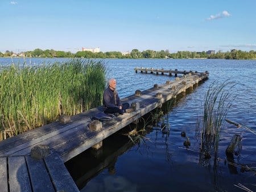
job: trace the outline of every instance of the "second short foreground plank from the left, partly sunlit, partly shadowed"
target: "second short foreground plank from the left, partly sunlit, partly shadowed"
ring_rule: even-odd
[[[32,191],[24,156],[8,157],[10,192]]]

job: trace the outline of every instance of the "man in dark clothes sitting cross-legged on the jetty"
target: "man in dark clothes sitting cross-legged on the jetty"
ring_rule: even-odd
[[[104,104],[104,112],[106,114],[114,114],[118,112],[119,114],[123,114],[127,108],[130,107],[129,103],[121,103],[120,98],[118,96],[115,87],[117,86],[117,82],[115,79],[111,78],[109,80],[109,86],[106,88],[103,94],[103,104]]]

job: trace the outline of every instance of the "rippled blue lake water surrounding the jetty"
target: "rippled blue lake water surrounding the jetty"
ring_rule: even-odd
[[[30,65],[63,59],[28,59]],[[105,60],[108,77],[117,79],[121,98],[163,84],[173,77],[136,74],[135,67],[209,71],[209,80],[181,97],[169,112],[170,135],[153,127],[140,145],[133,145],[126,136],[116,134],[104,141],[102,155],[86,151],[67,163],[81,191],[242,191],[234,184],[242,183],[256,191],[255,171],[226,163],[225,149],[234,134],[241,135],[242,151],[234,156],[238,165],[256,170],[256,135],[232,124],[226,124],[218,148],[219,161],[200,158],[200,138],[196,136],[197,116],[201,113],[204,94],[212,82],[236,82],[228,118],[256,131],[256,60]],[[0,59],[1,64],[23,63],[23,59]],[[183,149],[185,131],[191,140]]]

